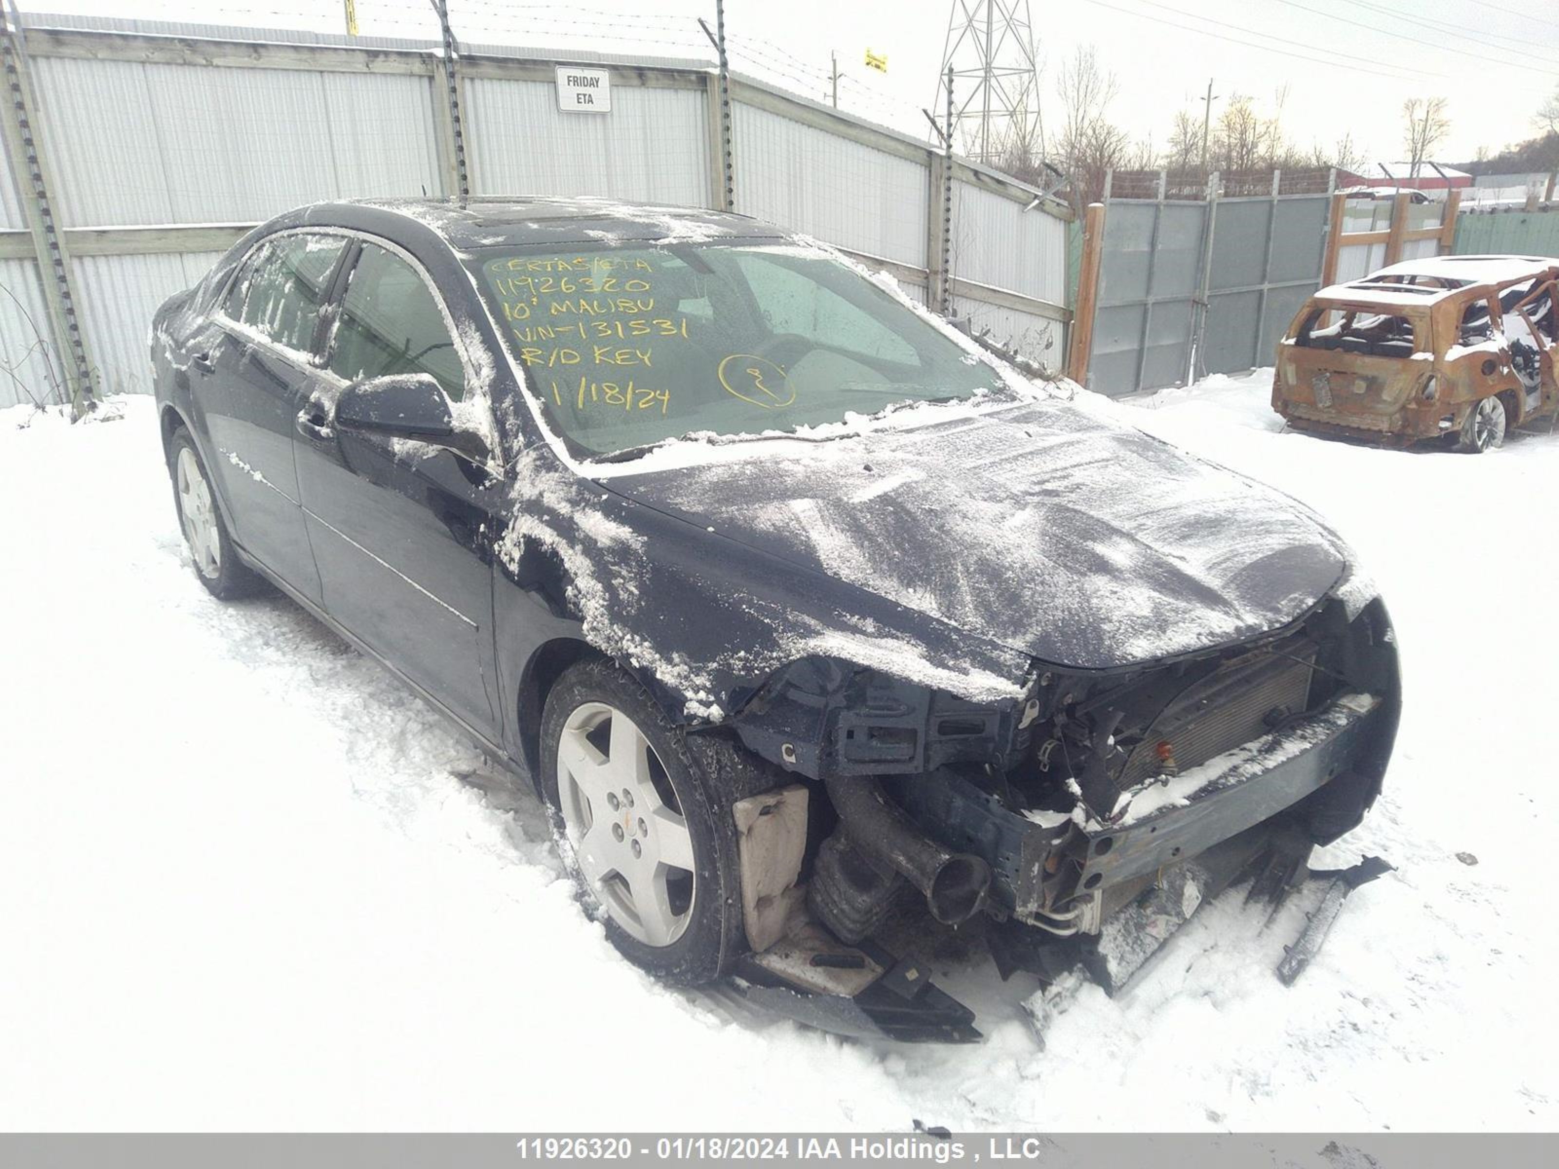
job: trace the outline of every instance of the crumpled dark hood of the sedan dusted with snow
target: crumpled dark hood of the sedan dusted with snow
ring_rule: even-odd
[[[1076,669],[1300,617],[1347,550],[1289,497],[1062,402],[716,446],[603,486],[968,634]],[[711,555],[719,555],[711,541]]]

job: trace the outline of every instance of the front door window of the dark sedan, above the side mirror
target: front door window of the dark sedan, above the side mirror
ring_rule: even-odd
[[[466,385],[460,352],[422,274],[373,243],[363,245],[346,284],[331,369],[348,382],[432,374],[454,401]]]

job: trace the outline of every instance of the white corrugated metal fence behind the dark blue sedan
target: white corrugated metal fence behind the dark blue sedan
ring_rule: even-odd
[[[69,22],[72,26],[64,26]],[[147,329],[249,224],[318,200],[455,189],[443,61],[426,42],[164,22],[23,17],[34,132],[106,393],[147,391]],[[458,31],[458,30],[457,30]],[[455,67],[474,193],[719,206],[719,114],[700,62],[606,61],[610,114],[561,114],[555,56],[465,47]],[[940,271],[940,153],[734,78],[736,210],[808,232],[1059,363],[1066,218],[954,159]],[[34,242],[0,176],[0,404],[61,383]],[[53,396],[53,394],[51,394]],[[58,399],[56,399],[58,401]]]

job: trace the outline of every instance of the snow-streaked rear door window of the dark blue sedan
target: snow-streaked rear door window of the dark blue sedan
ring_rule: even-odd
[[[287,349],[313,352],[320,310],[345,246],[340,235],[295,234],[267,242],[228,293],[228,316]]]

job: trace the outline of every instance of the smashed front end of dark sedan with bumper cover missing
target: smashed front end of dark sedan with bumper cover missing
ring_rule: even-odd
[[[1035,662],[995,703],[797,661],[726,722],[801,779],[737,806],[753,952],[731,985],[831,1030],[973,1040],[914,943],[957,927],[1002,977],[1115,993],[1224,888],[1305,881],[1378,795],[1398,711],[1384,605],[1338,594],[1172,661]]]

